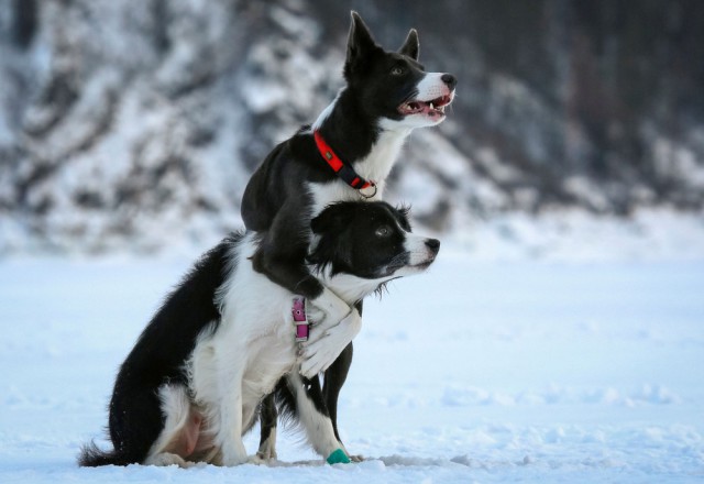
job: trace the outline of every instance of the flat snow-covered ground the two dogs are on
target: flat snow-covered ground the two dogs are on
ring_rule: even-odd
[[[77,468],[117,366],[189,264],[0,262],[0,482],[704,481],[704,261],[476,262],[448,248],[365,306],[340,403],[365,462],[322,465],[284,433],[272,468]]]

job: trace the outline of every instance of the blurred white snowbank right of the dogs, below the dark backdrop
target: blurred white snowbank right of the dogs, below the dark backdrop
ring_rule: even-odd
[[[482,261],[698,261],[704,258],[704,213],[664,208],[629,217],[554,208],[541,213],[457,217],[450,240]]]

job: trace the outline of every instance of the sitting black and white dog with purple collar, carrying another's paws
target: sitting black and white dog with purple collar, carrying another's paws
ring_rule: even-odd
[[[307,268],[348,306],[391,279],[422,272],[440,248],[438,240],[413,235],[406,211],[385,202],[334,204],[312,219],[311,232]],[[232,234],[166,298],[117,376],[113,450],[87,446],[80,465],[261,462],[248,457],[242,435],[274,391],[314,449],[344,461],[299,369],[305,353],[320,352],[327,340],[351,340],[361,320],[326,334],[314,327],[301,348],[294,323],[301,312],[305,320],[305,302],[254,271],[260,244],[254,232]]]

